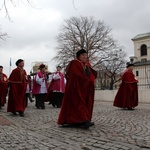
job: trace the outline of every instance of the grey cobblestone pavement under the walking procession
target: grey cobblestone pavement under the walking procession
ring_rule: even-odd
[[[25,117],[0,110],[0,150],[149,150],[150,104],[134,111],[95,102],[89,130],[57,125],[60,109],[29,103]]]

